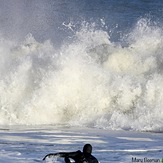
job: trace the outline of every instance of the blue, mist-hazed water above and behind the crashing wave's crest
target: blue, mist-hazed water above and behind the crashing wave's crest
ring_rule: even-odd
[[[50,39],[60,44],[72,36],[63,23],[74,23],[79,30],[83,21],[96,23],[117,41],[140,18],[162,24],[162,0],[8,0],[0,1],[0,32],[12,39],[31,33],[36,39]],[[101,19],[105,25],[101,24]]]

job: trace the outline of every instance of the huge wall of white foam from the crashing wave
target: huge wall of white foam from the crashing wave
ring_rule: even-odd
[[[141,19],[125,40],[87,23],[58,50],[0,40],[0,124],[163,131],[163,31]]]

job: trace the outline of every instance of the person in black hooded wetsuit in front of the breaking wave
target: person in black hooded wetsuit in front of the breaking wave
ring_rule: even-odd
[[[73,159],[75,163],[99,163],[98,160],[92,155],[91,144],[85,144],[83,147],[83,152],[78,150],[76,152],[50,153],[46,155],[43,160],[51,156],[64,157],[66,163],[71,163],[70,158]]]

